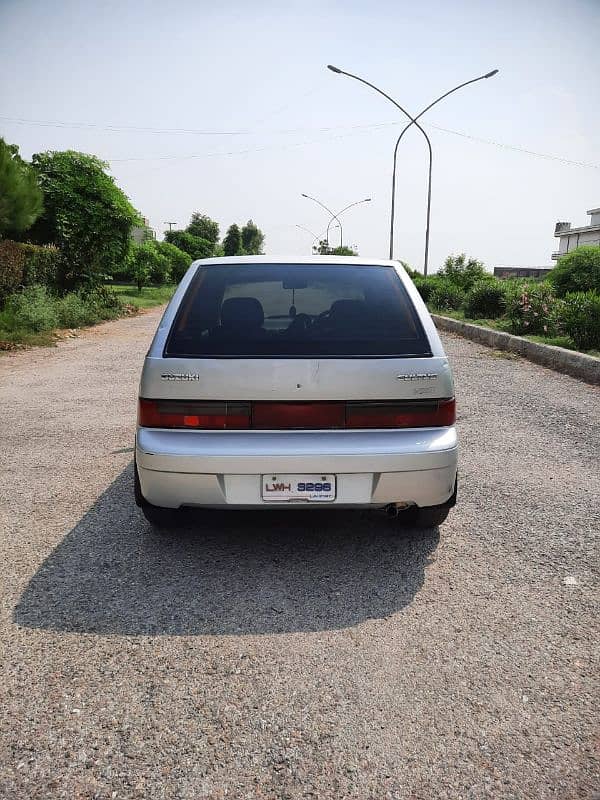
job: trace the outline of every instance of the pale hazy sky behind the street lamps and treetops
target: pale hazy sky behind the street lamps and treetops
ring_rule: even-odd
[[[599,30],[600,0],[0,0],[0,136],[26,158],[75,149],[109,161],[159,232],[195,210],[222,233],[252,217],[271,254],[309,253],[295,225],[327,225],[301,192],[334,210],[372,197],[345,215],[344,238],[385,258],[405,119],[326,64],[415,114],[498,68],[423,118],[430,263],[466,251],[490,267],[550,264],[556,220],[587,224],[600,206]],[[400,151],[396,255],[419,268],[426,180],[413,129]]]

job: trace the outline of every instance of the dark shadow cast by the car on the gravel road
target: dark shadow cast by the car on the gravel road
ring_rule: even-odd
[[[14,621],[121,635],[309,632],[383,618],[423,585],[439,533],[380,512],[190,513],[153,533],[129,465],[50,554]]]

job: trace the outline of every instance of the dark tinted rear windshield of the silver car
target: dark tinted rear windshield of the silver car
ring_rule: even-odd
[[[165,356],[352,358],[431,355],[393,267],[199,267]]]

